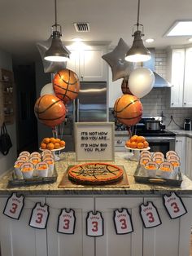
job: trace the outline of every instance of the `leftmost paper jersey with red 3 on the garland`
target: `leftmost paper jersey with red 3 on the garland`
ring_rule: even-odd
[[[11,196],[7,199],[3,214],[7,215],[10,218],[19,219],[23,208],[24,196],[17,196],[16,193],[12,193]]]

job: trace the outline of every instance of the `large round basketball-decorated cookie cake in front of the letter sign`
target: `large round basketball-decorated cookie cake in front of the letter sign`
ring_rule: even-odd
[[[81,184],[102,185],[123,178],[124,171],[107,163],[86,163],[68,170],[68,179]]]

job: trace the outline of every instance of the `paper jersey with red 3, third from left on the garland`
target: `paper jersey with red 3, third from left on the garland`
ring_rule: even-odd
[[[69,211],[66,208],[61,210],[58,220],[57,232],[63,234],[74,234],[76,226],[76,216],[75,211],[70,209]]]

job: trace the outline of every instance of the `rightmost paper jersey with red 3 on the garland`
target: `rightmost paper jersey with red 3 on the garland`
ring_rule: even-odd
[[[181,197],[177,196],[175,192],[171,192],[170,196],[164,195],[163,199],[170,218],[179,218],[187,213]]]

